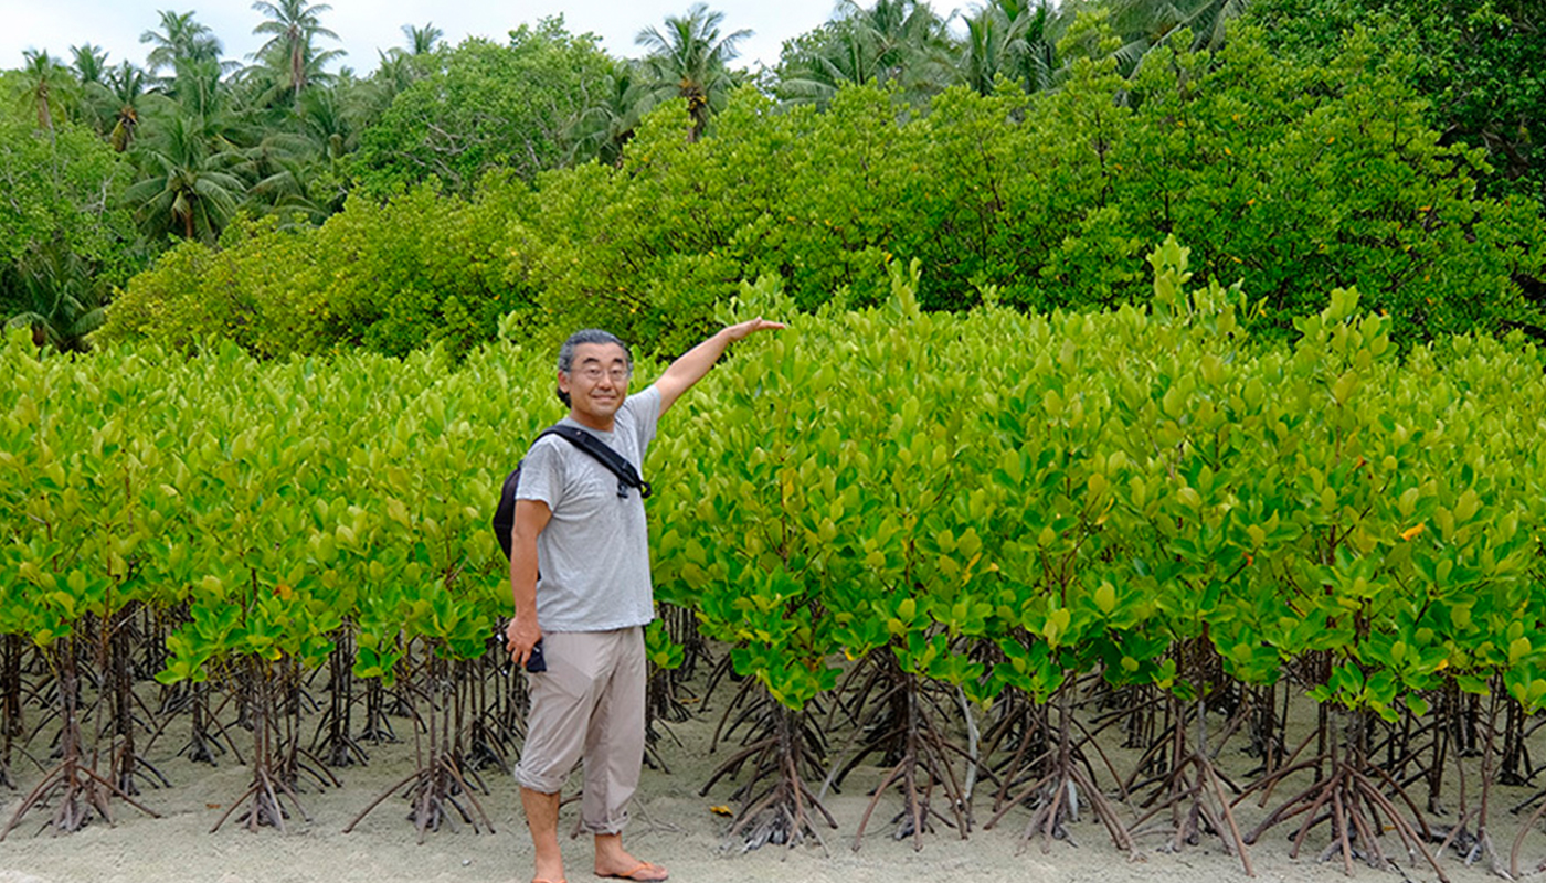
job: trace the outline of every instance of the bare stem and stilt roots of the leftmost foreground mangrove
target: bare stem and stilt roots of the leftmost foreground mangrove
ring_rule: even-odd
[[[108,799],[113,796],[152,818],[161,818],[155,810],[125,795],[111,779],[97,773],[94,755],[93,764],[85,759],[85,750],[80,744],[79,660],[74,636],[54,640],[48,648],[48,657],[59,684],[60,761],[43,775],[43,781],[37,787],[22,798],[15,813],[11,815],[5,829],[0,829],[0,840],[5,840],[32,807],[46,801],[53,801],[54,815],[43,824],[43,829],[51,827],[54,834],[80,830],[91,820],[93,812],[111,824],[113,815],[108,809]]]

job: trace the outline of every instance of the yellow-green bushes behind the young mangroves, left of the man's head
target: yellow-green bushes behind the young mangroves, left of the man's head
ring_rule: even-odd
[[[182,243],[135,277],[100,337],[182,351],[229,339],[258,356],[461,353],[524,305],[490,254],[502,227],[502,206],[428,187],[383,204],[352,198],[322,227],[243,221],[218,247]]]

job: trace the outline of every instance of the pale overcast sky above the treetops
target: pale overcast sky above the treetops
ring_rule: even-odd
[[[861,0],[869,6],[869,0]],[[332,0],[332,9],[322,12],[322,25],[339,42],[323,40],[326,48],[348,53],[342,63],[368,74],[377,65],[377,51],[405,45],[404,25],[424,26],[433,22],[445,31],[451,45],[468,36],[498,42],[523,22],[535,23],[546,15],[564,15],[574,34],[586,31],[601,37],[601,45],[614,56],[638,57],[642,49],[634,37],[643,28],[659,26],[666,15],[682,15],[693,0]],[[826,22],[836,0],[717,0],[710,9],[725,14],[722,34],[742,28],[754,31],[742,40],[734,66],[771,66],[778,62],[784,40],[810,31]],[[955,9],[949,0],[932,0],[942,14]],[[161,9],[195,12],[195,20],[207,25],[226,48],[226,57],[241,62],[263,40],[252,28],[263,15],[250,0],[0,0],[0,68],[19,68],[25,49],[46,49],[70,62],[70,46],[94,43],[108,53],[108,63],[124,59],[145,63],[148,46],[139,36],[159,29]]]

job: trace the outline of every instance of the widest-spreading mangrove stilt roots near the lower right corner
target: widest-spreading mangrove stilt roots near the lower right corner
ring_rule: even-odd
[[[1342,738],[1331,741],[1334,747],[1326,756],[1291,762],[1275,773],[1257,779],[1235,798],[1238,804],[1255,790],[1271,787],[1296,772],[1317,770],[1320,773],[1323,770],[1323,776],[1317,775],[1317,781],[1308,789],[1271,810],[1245,837],[1245,843],[1252,844],[1272,827],[1302,815],[1303,821],[1294,832],[1289,857],[1299,857],[1299,851],[1313,827],[1328,823],[1331,843],[1322,852],[1320,860],[1325,861],[1340,854],[1343,869],[1351,874],[1354,857],[1362,858],[1371,868],[1396,866],[1381,847],[1382,835],[1388,826],[1390,830],[1396,832],[1413,863],[1421,855],[1438,878],[1447,883],[1449,877],[1425,846],[1425,841],[1438,840],[1425,817],[1390,773],[1368,759],[1368,716],[1371,711],[1354,708],[1351,711],[1339,710],[1336,714],[1343,721]],[[1410,817],[1402,813],[1394,799],[1385,796],[1387,790],[1407,806]]]

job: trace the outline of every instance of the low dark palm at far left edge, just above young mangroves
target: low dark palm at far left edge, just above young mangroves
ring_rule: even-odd
[[[83,353],[87,334],[102,326],[102,285],[96,274],[57,238],[34,246],[6,274],[12,285],[6,328],[31,328],[32,343],[60,353]]]

